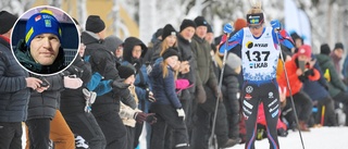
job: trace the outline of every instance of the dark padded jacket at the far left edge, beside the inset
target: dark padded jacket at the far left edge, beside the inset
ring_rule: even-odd
[[[23,122],[30,96],[28,73],[15,61],[10,44],[0,37],[0,122]]]

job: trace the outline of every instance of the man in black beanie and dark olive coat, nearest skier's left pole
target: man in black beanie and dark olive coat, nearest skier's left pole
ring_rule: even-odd
[[[191,135],[191,148],[202,149],[208,147],[208,137],[209,137],[209,127],[210,127],[210,114],[211,112],[204,110],[200,103],[204,103],[208,99],[206,89],[210,89],[215,97],[221,96],[219,91],[217,79],[214,74],[214,67],[211,59],[211,46],[204,39],[207,35],[208,22],[203,16],[197,16],[195,18],[197,25],[196,34],[191,41],[191,50],[194,52],[194,58],[197,67],[196,67],[196,99],[194,109],[196,113],[196,119],[194,121],[195,128],[192,129]],[[204,88],[204,86],[207,86]],[[220,92],[220,94],[219,94]]]

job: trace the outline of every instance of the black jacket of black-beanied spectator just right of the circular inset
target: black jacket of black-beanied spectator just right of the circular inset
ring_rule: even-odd
[[[85,59],[89,59],[88,62],[90,63],[92,74],[98,72],[103,76],[104,80],[111,80],[111,83],[120,80],[121,77],[114,58],[105,49],[102,41],[92,37],[90,33],[84,32],[82,34],[82,42],[86,45]],[[110,88],[110,86],[107,88]],[[112,91],[98,96],[91,108],[94,115],[99,116],[108,113],[108,111],[119,111],[120,97],[128,98],[130,94],[127,88],[112,88]]]

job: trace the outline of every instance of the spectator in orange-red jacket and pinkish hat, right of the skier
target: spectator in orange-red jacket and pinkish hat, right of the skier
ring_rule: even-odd
[[[296,54],[293,55],[290,61],[285,63],[287,70],[287,76],[290,84],[291,94],[289,95],[289,88],[287,88],[287,105],[284,111],[291,108],[289,96],[294,97],[295,108],[299,120],[299,128],[303,132],[309,132],[307,123],[312,114],[312,101],[311,98],[302,90],[303,82],[318,80],[320,73],[313,69],[313,61],[311,61],[311,47],[304,45],[301,46]],[[287,78],[283,72],[281,77],[277,78],[281,88],[287,87]],[[295,119],[288,120],[289,124],[295,123]]]

